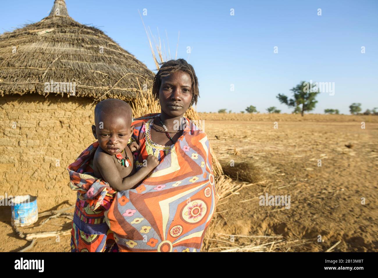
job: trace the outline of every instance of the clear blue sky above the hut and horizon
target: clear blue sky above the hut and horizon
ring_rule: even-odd
[[[378,107],[378,1],[66,3],[73,19],[99,27],[151,70],[156,67],[138,9],[147,9],[143,20],[155,36],[159,28],[166,42],[167,31],[172,59],[180,31],[178,58],[187,59],[187,46],[192,48],[188,62],[200,84],[200,112],[254,105],[261,113],[270,106],[290,113],[276,96],[291,96],[301,80],[335,82],[335,94],[319,94],[312,113],[334,108],[349,114],[353,102],[362,103],[363,111]],[[0,32],[41,20],[52,5],[53,0],[2,1]]]

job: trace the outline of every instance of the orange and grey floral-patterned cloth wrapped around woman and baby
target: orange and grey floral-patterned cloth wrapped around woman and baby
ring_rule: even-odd
[[[132,123],[138,130],[134,132],[137,142],[142,126],[154,115]],[[81,213],[75,211],[74,215],[73,251],[200,251],[215,211],[216,192],[208,138],[195,125],[189,127],[135,189],[114,192],[90,175],[90,161],[98,142],[68,167],[71,188],[78,190],[76,210]]]

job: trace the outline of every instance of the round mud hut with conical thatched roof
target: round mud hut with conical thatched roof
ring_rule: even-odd
[[[94,140],[93,106],[136,101],[154,74],[104,32],[73,20],[64,0],[48,17],[0,36],[0,195],[74,200],[66,167]]]

